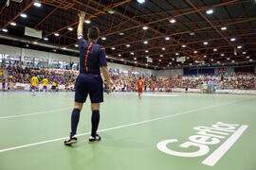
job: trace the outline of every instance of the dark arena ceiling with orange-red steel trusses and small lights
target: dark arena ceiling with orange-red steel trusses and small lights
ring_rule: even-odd
[[[9,7],[6,2],[0,4],[4,44],[77,57],[77,14],[85,11],[90,23],[84,28],[100,27],[99,43],[109,61],[168,69],[256,60],[255,0],[10,0]],[[42,30],[43,38],[25,36],[25,26]],[[180,57],[186,60],[178,62]]]

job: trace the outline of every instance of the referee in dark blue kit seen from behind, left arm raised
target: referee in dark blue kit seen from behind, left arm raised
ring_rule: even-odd
[[[76,133],[80,112],[88,94],[90,96],[92,110],[92,128],[89,143],[101,141],[101,136],[97,134],[100,122],[100,103],[103,102],[101,73],[106,81],[106,93],[111,93],[105,48],[97,43],[100,38],[100,30],[96,26],[90,27],[87,32],[88,41],[85,41],[82,36],[84,17],[85,12],[80,12],[78,26],[80,75],[76,81],[75,105],[71,115],[71,132],[69,139],[64,141],[66,145],[77,143]]]

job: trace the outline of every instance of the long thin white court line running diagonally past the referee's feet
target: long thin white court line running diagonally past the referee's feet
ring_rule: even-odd
[[[137,122],[137,123],[133,123],[133,124],[127,124],[127,125],[123,125],[123,126],[119,126],[119,127],[104,128],[104,129],[101,129],[101,130],[98,130],[98,131],[103,132],[103,131],[109,131],[109,130],[113,130],[113,129],[122,128],[122,127],[137,126],[137,125],[141,125],[141,124],[145,124],[145,123],[149,123],[149,122],[154,122],[154,121],[157,121],[157,120],[167,119],[167,118],[170,118],[170,117],[175,117],[175,116],[179,116],[179,115],[182,115],[182,114],[191,113],[191,112],[198,111],[198,110],[208,110],[210,108],[225,106],[225,105],[229,105],[231,103],[235,103],[235,102],[239,102],[239,101],[241,101],[241,100],[236,100],[236,101],[232,101],[232,102],[224,103],[224,104],[219,104],[219,105],[213,105],[213,106],[209,106],[209,107],[203,107],[203,108],[199,108],[199,109],[195,109],[195,110],[186,110],[186,111],[183,111],[183,112],[179,112],[179,113],[175,113],[175,114],[171,114],[171,115],[166,115],[166,116],[162,116],[162,117],[157,117],[157,118],[154,118],[154,119],[149,119],[149,120],[145,120],[145,121],[141,121],[141,122]],[[84,135],[87,135],[87,134],[90,134],[90,132],[85,132],[85,133],[79,134],[77,136],[84,136]],[[9,147],[9,148],[4,148],[4,149],[0,149],[0,153],[7,152],[7,151],[10,151],[10,150],[16,150],[16,149],[20,149],[20,148],[26,148],[26,147],[30,147],[30,146],[33,146],[33,145],[47,144],[47,143],[52,143],[52,142],[56,142],[56,141],[62,141],[66,138],[68,138],[68,137],[62,137],[62,138],[47,140],[47,141],[43,141],[43,142],[39,142],[39,143],[23,144],[23,145],[13,146],[13,147]]]

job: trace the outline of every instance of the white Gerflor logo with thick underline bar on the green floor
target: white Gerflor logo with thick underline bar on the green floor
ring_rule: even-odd
[[[202,164],[214,166],[225,154],[228,154],[229,149],[241,138],[247,127],[247,125],[223,122],[217,122],[210,127],[193,127],[195,134],[188,137],[187,140],[164,140],[156,144],[156,147],[161,152],[174,157],[204,157],[205,160],[201,162]],[[214,145],[218,145],[218,147],[216,148]]]

